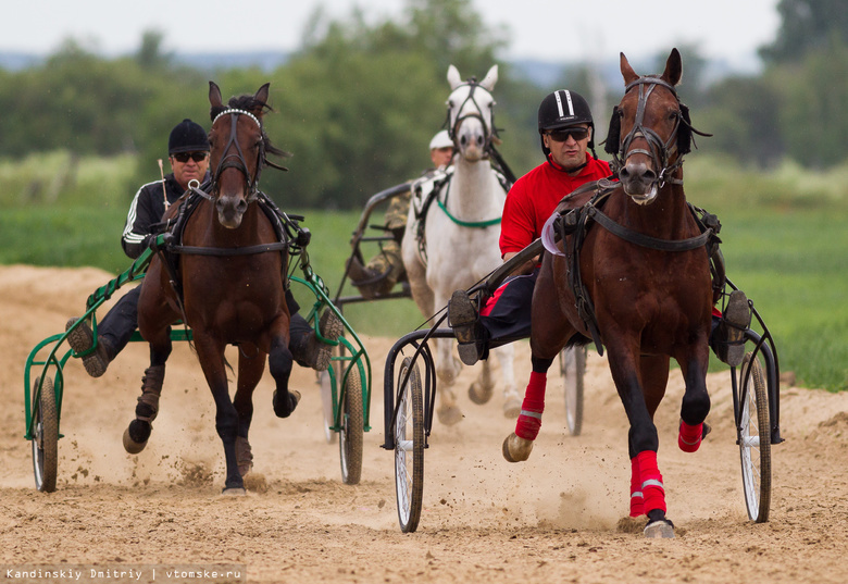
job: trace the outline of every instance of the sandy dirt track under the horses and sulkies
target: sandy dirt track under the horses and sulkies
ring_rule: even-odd
[[[109,277],[93,269],[0,266],[0,580],[33,564],[238,564],[249,582],[848,582],[848,395],[784,388],[786,442],[773,447],[771,521],[753,524],[727,373],[708,380],[713,433],[694,455],[676,446],[683,384],[673,373],[657,422],[677,537],[646,540],[619,527],[627,512],[627,427],[606,361],[594,352],[583,434],[568,436],[561,392],[551,384],[541,435],[523,464],[500,453],[514,422],[501,414],[499,390],[474,406],[461,389],[465,419],[454,427],[436,423],[425,452],[414,534],[400,533],[392,455],[379,448],[387,338],[364,338],[374,394],[360,485],[341,483],[314,373],[296,368],[292,386],[303,399],[291,418],[274,417],[269,374],[254,395],[251,490],[221,496],[214,409],[185,344],[169,362],[148,448],[127,455],[121,435],[147,365],[147,346],[132,344],[101,378],[76,360],[65,368],[58,490],[38,493],[23,438],[26,356],[63,331]],[[523,383],[528,348],[517,347]],[[463,371],[461,386],[472,376]]]

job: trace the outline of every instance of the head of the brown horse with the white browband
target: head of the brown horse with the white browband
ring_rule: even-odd
[[[221,89],[209,82],[212,196],[219,222],[230,229],[241,224],[248,204],[255,199],[259,175],[266,162],[269,142],[262,115],[267,108],[269,86],[263,85],[253,96],[232,98],[224,105]]]

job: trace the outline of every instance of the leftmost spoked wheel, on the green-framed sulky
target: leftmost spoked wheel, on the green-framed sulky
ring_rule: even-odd
[[[35,396],[38,382],[33,387],[33,418],[35,433],[33,436],[33,471],[36,488],[42,493],[55,490],[57,468],[59,463],[59,415],[55,406],[53,380],[45,377],[41,395]]]

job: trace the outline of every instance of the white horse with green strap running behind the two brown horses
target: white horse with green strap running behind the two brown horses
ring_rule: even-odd
[[[424,237],[417,237],[416,206],[410,206],[402,243],[412,297],[424,316],[446,307],[453,290],[467,289],[501,264],[498,238],[507,192],[488,160],[494,137],[491,89],[498,80],[498,66],[486,77],[463,82],[453,65],[448,69],[451,94],[448,98],[448,133],[457,154],[450,181],[441,187],[438,200],[427,208]],[[453,355],[453,339],[436,339],[436,372],[439,378],[439,420],[456,424],[462,420],[451,388],[462,363]],[[504,415],[515,418],[521,398],[515,388],[514,349],[506,345],[492,352],[498,357],[503,380]],[[488,361],[482,362],[477,381],[469,388],[475,403],[485,403],[495,382]]]

